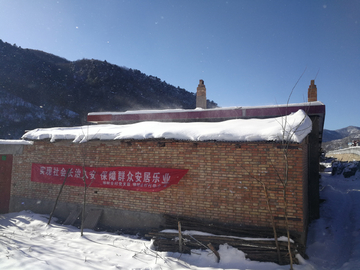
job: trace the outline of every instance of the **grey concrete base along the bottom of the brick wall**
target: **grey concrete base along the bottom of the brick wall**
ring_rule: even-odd
[[[54,204],[55,201],[13,196],[10,200],[10,212],[31,210],[34,213],[50,215]],[[82,209],[82,205],[58,201],[54,216],[65,220],[70,212],[76,209]],[[86,211],[88,212],[90,209],[102,209],[103,213],[98,226],[111,228],[111,230],[148,232],[150,230],[157,230],[160,225],[164,225],[165,223],[163,216],[159,214],[127,211],[99,205],[86,205]],[[146,220],[146,222],[144,222],[144,220]]]

